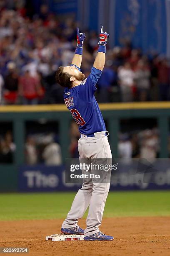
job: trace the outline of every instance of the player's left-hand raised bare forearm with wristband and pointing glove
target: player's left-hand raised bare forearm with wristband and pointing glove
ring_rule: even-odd
[[[79,33],[79,28],[77,28],[77,48],[75,50],[75,55],[72,59],[72,65],[81,67],[82,62],[82,47],[85,40],[85,33]]]

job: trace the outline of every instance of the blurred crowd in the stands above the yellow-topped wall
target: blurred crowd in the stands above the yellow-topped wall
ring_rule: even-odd
[[[24,0],[0,1],[0,104],[63,102],[55,72],[71,63],[76,26],[72,18],[59,21],[47,5],[35,14]],[[83,32],[81,68],[87,76],[97,53],[98,35]],[[145,55],[129,41],[113,49],[108,42],[106,60],[97,83],[98,102],[170,100],[170,66],[165,56]]]

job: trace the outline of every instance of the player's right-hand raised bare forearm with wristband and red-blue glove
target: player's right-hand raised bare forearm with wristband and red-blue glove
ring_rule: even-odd
[[[109,37],[109,34],[107,32],[103,32],[103,27],[101,28],[100,36],[99,36],[99,48],[97,52],[97,56],[95,58],[95,62],[93,64],[93,67],[96,69],[103,70],[105,66],[105,53],[106,53],[106,44],[107,44],[107,38]]]

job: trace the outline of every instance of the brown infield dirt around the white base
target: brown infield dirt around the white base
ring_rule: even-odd
[[[0,222],[0,247],[28,247],[29,256],[170,255],[170,217],[104,218],[100,230],[113,241],[45,241],[62,220]],[[85,228],[85,220],[79,222]],[[16,254],[8,254],[16,255]]]

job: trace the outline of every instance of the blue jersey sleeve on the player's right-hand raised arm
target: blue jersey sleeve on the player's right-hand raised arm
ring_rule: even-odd
[[[90,75],[79,86],[79,97],[85,102],[93,102],[94,93],[97,89],[96,84],[101,74],[101,70],[92,67]]]

